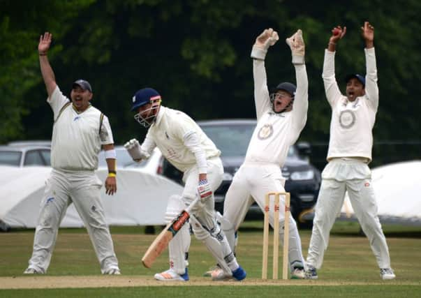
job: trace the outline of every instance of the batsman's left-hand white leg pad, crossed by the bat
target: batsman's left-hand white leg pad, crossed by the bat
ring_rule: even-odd
[[[168,200],[165,221],[169,223],[185,208],[186,204],[184,204],[182,197],[179,195],[172,195]],[[185,224],[168,245],[170,267],[177,272],[177,274],[184,274],[186,267],[189,265],[187,257],[190,243],[189,224]]]

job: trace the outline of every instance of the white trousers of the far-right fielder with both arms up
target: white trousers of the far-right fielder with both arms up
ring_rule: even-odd
[[[317,269],[322,266],[330,230],[344,204],[346,191],[355,216],[369,239],[378,267],[390,268],[389,249],[378,220],[371,171],[366,163],[350,158],[334,158],[322,172],[307,265]]]

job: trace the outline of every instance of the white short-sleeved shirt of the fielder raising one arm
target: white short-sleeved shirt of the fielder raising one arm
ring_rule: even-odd
[[[103,117],[100,133],[101,111],[93,106],[77,112],[71,104],[60,113],[69,101],[58,86],[47,98],[54,112],[51,165],[60,170],[96,170],[101,145],[114,143],[110,122]]]

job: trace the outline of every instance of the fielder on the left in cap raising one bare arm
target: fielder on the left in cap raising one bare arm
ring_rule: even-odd
[[[64,96],[55,82],[47,59],[52,34],[40,36],[38,54],[47,88],[47,103],[54,112],[52,129],[52,172],[45,186],[34,237],[34,251],[24,274],[45,274],[57,239],[57,231],[69,204],[82,218],[89,233],[103,274],[120,274],[112,239],[101,204],[102,183],[96,177],[98,154],[105,150],[108,195],[117,191],[116,154],[108,117],[90,104],[89,82],[73,83],[71,100]]]

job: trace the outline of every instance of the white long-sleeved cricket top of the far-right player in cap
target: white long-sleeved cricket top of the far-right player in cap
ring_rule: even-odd
[[[350,102],[341,94],[334,75],[334,52],[325,50],[323,82],[332,107],[327,161],[338,157],[361,157],[371,161],[373,126],[378,108],[376,54],[374,47],[364,49],[367,75],[365,95]]]

